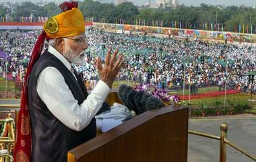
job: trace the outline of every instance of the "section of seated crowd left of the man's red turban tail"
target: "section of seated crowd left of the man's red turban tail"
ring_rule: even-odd
[[[3,77],[7,77],[7,72],[11,74],[13,81],[24,79],[28,60],[39,33],[37,30],[0,31],[0,73]]]

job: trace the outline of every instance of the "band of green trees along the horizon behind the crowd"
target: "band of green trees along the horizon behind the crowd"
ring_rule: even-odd
[[[46,3],[44,6],[32,2],[15,3],[8,11],[6,7],[0,5],[0,16],[10,14],[13,15],[15,20],[18,20],[20,16],[35,17],[51,17],[60,13],[58,5],[55,3]],[[253,7],[247,7],[245,5],[218,7],[215,5],[201,5],[186,6],[179,5],[177,8],[147,8],[136,7],[133,3],[121,3],[115,6],[113,3],[100,3],[93,0],[84,0],[79,2],[79,9],[84,13],[85,17],[94,17],[94,21],[99,21],[100,18],[104,18],[105,22],[117,23],[119,19],[125,19],[127,24],[133,24],[135,19],[141,19],[150,25],[150,22],[161,21],[164,22],[164,26],[170,26],[170,22],[189,22],[190,26],[203,23],[213,22],[218,24],[224,24],[224,30],[238,32],[238,26],[249,28],[251,25],[256,24],[256,9]],[[151,23],[152,24],[152,23]],[[243,24],[247,24],[243,26]],[[209,27],[208,27],[209,28]]]

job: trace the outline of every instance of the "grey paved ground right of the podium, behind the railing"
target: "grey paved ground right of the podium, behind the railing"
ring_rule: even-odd
[[[228,124],[228,140],[256,156],[256,117],[254,116],[192,119],[189,120],[189,130],[220,136],[222,122]],[[218,140],[189,134],[188,162],[218,162],[219,152],[220,142]],[[253,160],[227,146],[227,162],[253,162]]]

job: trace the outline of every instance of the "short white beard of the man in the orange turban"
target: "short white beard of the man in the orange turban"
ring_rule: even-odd
[[[65,42],[65,50],[63,52],[63,56],[69,60],[70,63],[73,63],[75,65],[83,65],[86,51],[82,51],[79,54],[76,54],[75,50],[71,49],[69,44]]]

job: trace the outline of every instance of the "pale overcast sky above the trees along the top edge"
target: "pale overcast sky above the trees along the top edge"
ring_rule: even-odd
[[[65,1],[65,0],[9,0],[11,2],[17,2],[17,1],[32,1],[32,2],[39,2],[39,1]],[[67,0],[69,1],[69,0]],[[79,0],[82,1],[82,0]],[[106,1],[117,1],[117,0],[98,0],[102,2]],[[149,0],[129,0],[133,1],[135,5],[143,5],[145,3],[148,3]],[[156,4],[156,0],[151,0],[152,4]],[[6,2],[6,0],[0,0],[0,2]],[[180,4],[185,5],[200,5],[201,3],[211,4],[211,5],[247,5],[247,6],[253,6],[256,5],[256,0],[179,0]]]

